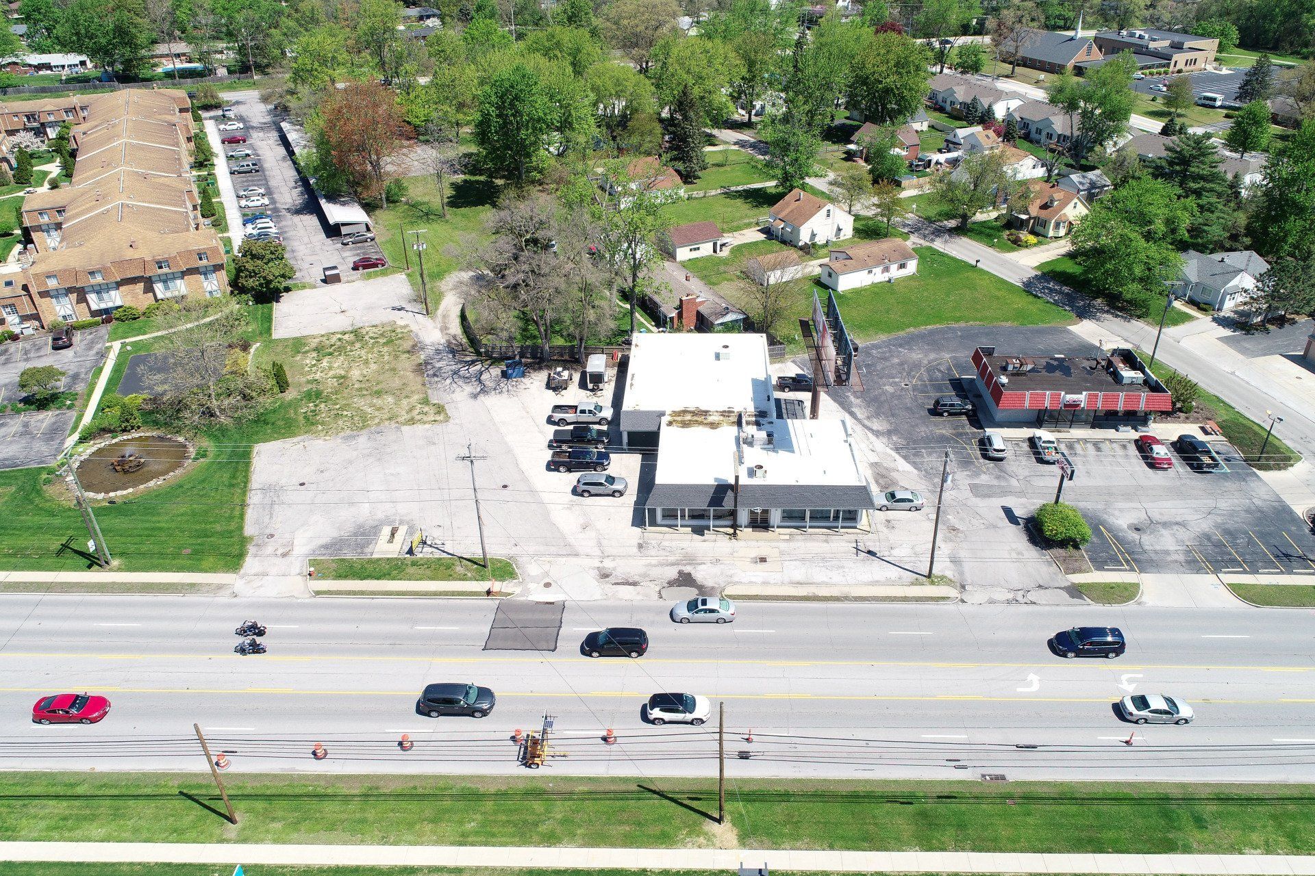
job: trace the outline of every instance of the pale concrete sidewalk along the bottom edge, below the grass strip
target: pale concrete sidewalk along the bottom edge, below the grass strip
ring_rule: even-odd
[[[275,846],[260,843],[0,843],[11,862],[171,864],[538,867],[550,869],[704,869],[736,867],[832,873],[1228,873],[1315,876],[1306,855],[1061,855],[959,851],[739,848],[533,848],[517,846]]]

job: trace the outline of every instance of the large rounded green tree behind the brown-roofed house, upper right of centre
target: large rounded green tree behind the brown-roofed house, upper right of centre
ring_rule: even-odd
[[[877,125],[901,125],[922,106],[931,54],[897,33],[878,33],[853,59],[847,100]]]

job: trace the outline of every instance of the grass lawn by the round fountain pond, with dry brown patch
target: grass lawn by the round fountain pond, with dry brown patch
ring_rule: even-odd
[[[237,571],[247,548],[243,524],[255,444],[446,419],[443,406],[429,402],[410,332],[372,326],[271,340],[272,305],[243,311],[246,335],[262,341],[256,364],[283,361],[292,386],[249,420],[193,433],[197,461],[178,478],[97,506],[96,519],[124,571]],[[109,387],[118,386],[133,353],[160,345],[159,339],[125,344]],[[159,426],[149,415],[143,419]],[[0,471],[0,567],[89,567],[84,557],[60,550],[66,540],[82,545],[87,535],[80,515],[53,481],[49,469]]]

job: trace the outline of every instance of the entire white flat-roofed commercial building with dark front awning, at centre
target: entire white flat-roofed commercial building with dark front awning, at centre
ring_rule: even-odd
[[[646,525],[843,529],[876,507],[848,423],[776,398],[764,335],[638,335],[622,443],[658,450]]]

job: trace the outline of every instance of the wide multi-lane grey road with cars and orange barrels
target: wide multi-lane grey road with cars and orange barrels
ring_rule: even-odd
[[[548,713],[565,755],[552,770],[709,775],[715,711],[702,728],[643,721],[648,695],[675,691],[725,703],[738,775],[1315,780],[1311,612],[743,603],[735,624],[681,626],[658,603],[577,603],[555,650],[485,650],[497,609],[7,595],[0,768],[204,770],[195,722],[237,771],[514,772],[509,737]],[[238,657],[233,628],[252,615],[270,651]],[[530,621],[504,642],[515,623]],[[1128,653],[1051,654],[1049,636],[1076,624],[1119,625]],[[648,630],[644,658],[580,654],[585,633],[622,625]],[[525,644],[551,632],[526,628]],[[431,682],[490,687],[497,708],[417,714]],[[1197,720],[1124,724],[1111,705],[1128,690],[1182,697]],[[80,691],[112,699],[105,721],[30,722],[39,695]]]

